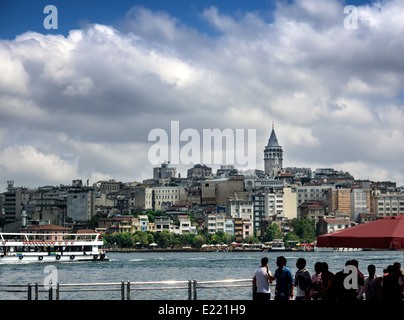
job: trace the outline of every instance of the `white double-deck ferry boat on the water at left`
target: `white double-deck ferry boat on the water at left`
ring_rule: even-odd
[[[0,263],[106,261],[98,233],[0,233]]]

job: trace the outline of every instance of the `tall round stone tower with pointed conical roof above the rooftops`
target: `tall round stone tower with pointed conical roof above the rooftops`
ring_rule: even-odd
[[[268,144],[264,149],[264,170],[265,175],[270,178],[277,177],[282,170],[283,151],[275,134],[274,123]]]

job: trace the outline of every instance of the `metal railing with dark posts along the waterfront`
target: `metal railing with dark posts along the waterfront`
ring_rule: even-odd
[[[91,293],[96,293],[92,299],[96,300],[132,300],[136,295],[143,295],[139,300],[144,299],[144,294],[152,294],[153,299],[172,299],[178,300],[197,300],[198,297],[210,291],[209,300],[228,299],[240,296],[239,288],[247,288],[242,293],[241,300],[252,299],[252,279],[231,279],[231,280],[213,280],[213,281],[149,281],[133,282],[121,281],[112,283],[56,283],[50,285],[31,284],[28,285],[1,285],[0,293],[24,294],[28,300],[60,300],[73,293],[72,299],[91,300]],[[237,289],[237,290],[233,290]],[[224,292],[227,290],[227,292]],[[100,295],[99,293],[104,295]],[[159,292],[160,294],[157,294]],[[202,293],[202,294],[201,294]],[[175,295],[176,294],[176,295]],[[109,295],[109,296],[108,296]],[[1,296],[0,296],[1,299]]]

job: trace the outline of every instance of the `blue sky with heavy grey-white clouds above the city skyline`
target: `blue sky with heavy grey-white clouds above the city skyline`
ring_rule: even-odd
[[[284,166],[404,185],[401,0],[48,4],[0,4],[0,190],[149,178],[172,121],[255,130],[258,169],[274,122]]]

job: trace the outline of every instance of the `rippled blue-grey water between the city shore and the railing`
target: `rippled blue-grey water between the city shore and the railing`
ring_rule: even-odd
[[[383,272],[389,264],[403,262],[402,251],[360,251],[360,252],[110,252],[110,261],[106,262],[78,262],[52,264],[57,270],[59,283],[100,283],[121,281],[167,281],[167,280],[224,280],[224,279],[251,279],[252,274],[260,265],[263,256],[269,258],[269,268],[273,273],[276,269],[276,257],[284,255],[287,267],[294,274],[296,260],[303,257],[307,261],[310,273],[314,272],[317,261],[327,262],[331,272],[338,272],[350,259],[359,261],[359,269],[366,274],[367,266],[374,264],[378,274]],[[0,284],[43,284],[49,272],[45,267],[49,264],[17,263],[0,265]],[[141,292],[134,299],[187,299],[184,290],[169,293]],[[214,292],[205,296],[209,299],[220,299],[226,293]],[[243,299],[248,299],[251,289],[246,289]],[[198,297],[201,299],[204,296]],[[26,299],[26,293],[0,292],[0,299]],[[41,299],[46,299],[42,297]],[[88,293],[64,294],[61,299],[120,299],[120,293],[97,293],[89,296]]]

